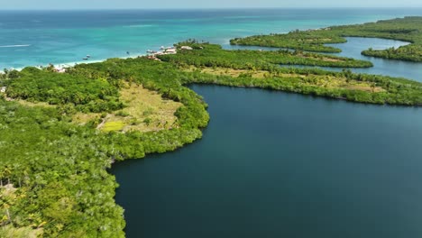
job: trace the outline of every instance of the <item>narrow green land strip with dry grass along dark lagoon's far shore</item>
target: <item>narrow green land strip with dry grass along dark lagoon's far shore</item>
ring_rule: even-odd
[[[296,72],[298,74],[292,74]],[[319,75],[318,75],[319,74]],[[307,77],[302,77],[307,75]],[[253,78],[244,74],[237,78],[225,75],[204,75],[194,73],[193,83],[217,84],[231,87],[261,87],[273,90],[299,93],[311,96],[325,96],[352,102],[390,105],[422,105],[422,84],[415,84],[406,79],[382,76],[327,73],[317,70],[280,69],[273,71],[267,78]],[[332,78],[344,78],[344,87],[330,87]],[[337,79],[338,80],[338,79]],[[367,82],[369,90],[347,87],[352,81]],[[373,88],[381,87],[382,91]],[[371,88],[371,89],[370,89]]]

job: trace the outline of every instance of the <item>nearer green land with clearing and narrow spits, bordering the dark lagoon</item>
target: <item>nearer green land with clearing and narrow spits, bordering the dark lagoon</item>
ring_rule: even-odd
[[[371,67],[366,61],[300,51],[308,49],[223,50],[197,41],[175,46],[177,54],[156,59],[0,74],[0,237],[124,237],[124,210],[114,198],[118,185],[107,169],[201,138],[207,105],[190,84],[422,105],[422,83],[405,78],[280,67]]]

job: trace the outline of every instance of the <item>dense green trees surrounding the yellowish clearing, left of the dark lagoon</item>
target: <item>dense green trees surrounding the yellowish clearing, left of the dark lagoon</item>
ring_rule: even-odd
[[[122,79],[126,73],[130,77]],[[142,158],[146,153],[172,151],[193,142],[201,137],[200,128],[208,121],[206,104],[182,87],[175,73],[172,67],[148,59],[111,59],[78,66],[60,76],[24,69],[14,79],[3,81],[10,87],[8,91],[19,92],[18,97],[31,95],[26,98],[58,106],[29,107],[0,99],[0,237],[124,237],[123,209],[114,200],[115,178],[106,169],[115,160]],[[85,82],[78,81],[82,76]],[[59,79],[46,81],[48,78]],[[75,110],[63,108],[78,108],[79,101],[75,97],[63,100],[68,96],[58,92],[81,83],[81,91],[96,101],[103,95],[97,94],[95,86],[92,90],[89,87],[100,78],[115,90],[123,80],[142,83],[182,102],[184,106],[177,112],[178,128],[98,133],[93,127],[98,122],[71,124],[70,114]],[[74,79],[78,83],[70,83]],[[28,82],[39,92],[31,94],[32,88],[24,87]],[[84,84],[89,87],[83,89]],[[49,95],[44,96],[42,92],[47,91]]]

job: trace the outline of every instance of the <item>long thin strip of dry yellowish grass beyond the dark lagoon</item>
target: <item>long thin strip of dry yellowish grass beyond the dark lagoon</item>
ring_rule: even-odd
[[[191,67],[188,71],[195,71],[197,68]],[[301,75],[301,74],[276,74],[271,75],[269,71],[265,70],[247,70],[247,69],[227,69],[227,68],[203,68],[199,69],[201,73],[230,76],[233,78],[248,75],[252,78],[298,78],[301,83],[307,86],[317,86],[326,88],[344,88],[349,90],[358,90],[365,92],[385,92],[382,87],[375,87],[371,82],[347,80],[346,78],[337,78],[333,76],[324,75]]]

